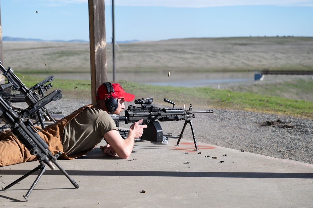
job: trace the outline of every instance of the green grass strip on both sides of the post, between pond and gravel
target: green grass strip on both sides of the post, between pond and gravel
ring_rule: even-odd
[[[21,77],[20,79],[27,87],[31,87],[42,80],[42,78],[23,76],[21,74],[17,74],[17,76]],[[136,99],[153,97],[155,104],[167,105],[167,103],[163,102],[163,99],[166,98],[175,102],[175,107],[179,108],[182,108],[184,104],[186,108],[189,108],[189,104],[193,104],[194,110],[226,108],[313,118],[313,102],[307,100],[235,92],[213,89],[211,87],[156,86],[123,80],[119,81],[119,83],[124,89],[127,89],[127,92],[135,94]],[[62,94],[69,98],[91,98],[90,81],[54,79],[52,84],[53,89],[61,89]],[[168,105],[171,106],[171,104]]]

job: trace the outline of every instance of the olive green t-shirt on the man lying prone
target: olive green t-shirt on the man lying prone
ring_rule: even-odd
[[[86,108],[64,127],[63,151],[76,154],[95,147],[103,135],[118,130],[111,116],[101,109]]]

